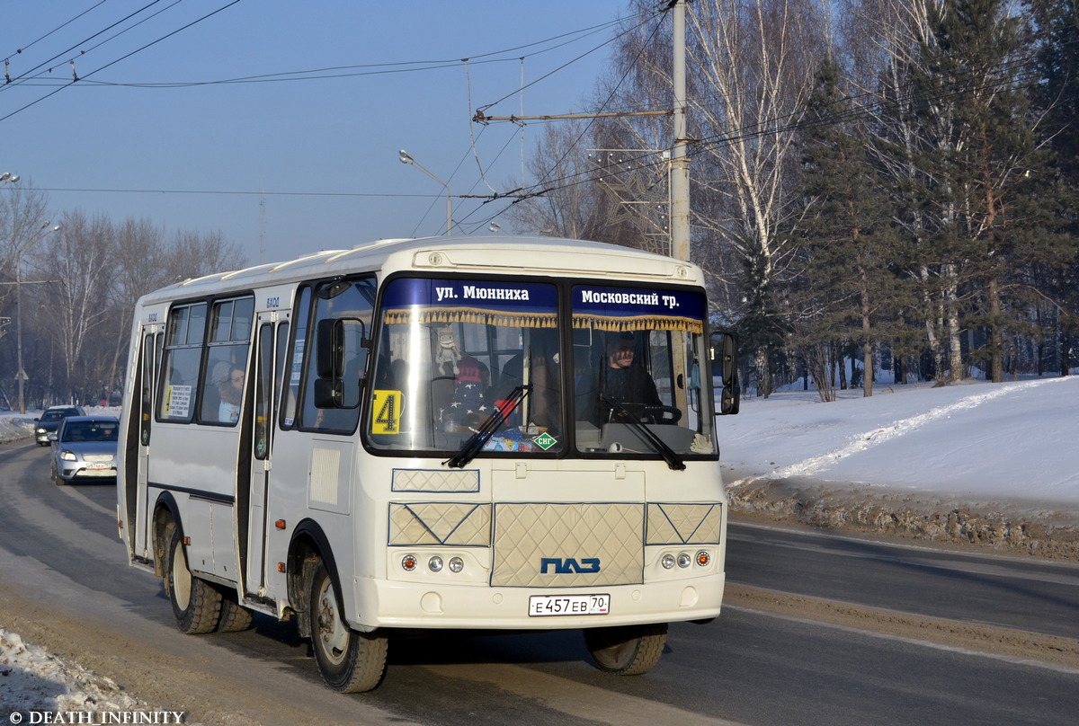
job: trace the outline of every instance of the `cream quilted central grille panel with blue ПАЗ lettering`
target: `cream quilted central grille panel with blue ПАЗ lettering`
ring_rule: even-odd
[[[593,587],[643,581],[641,503],[495,505],[495,587]]]

